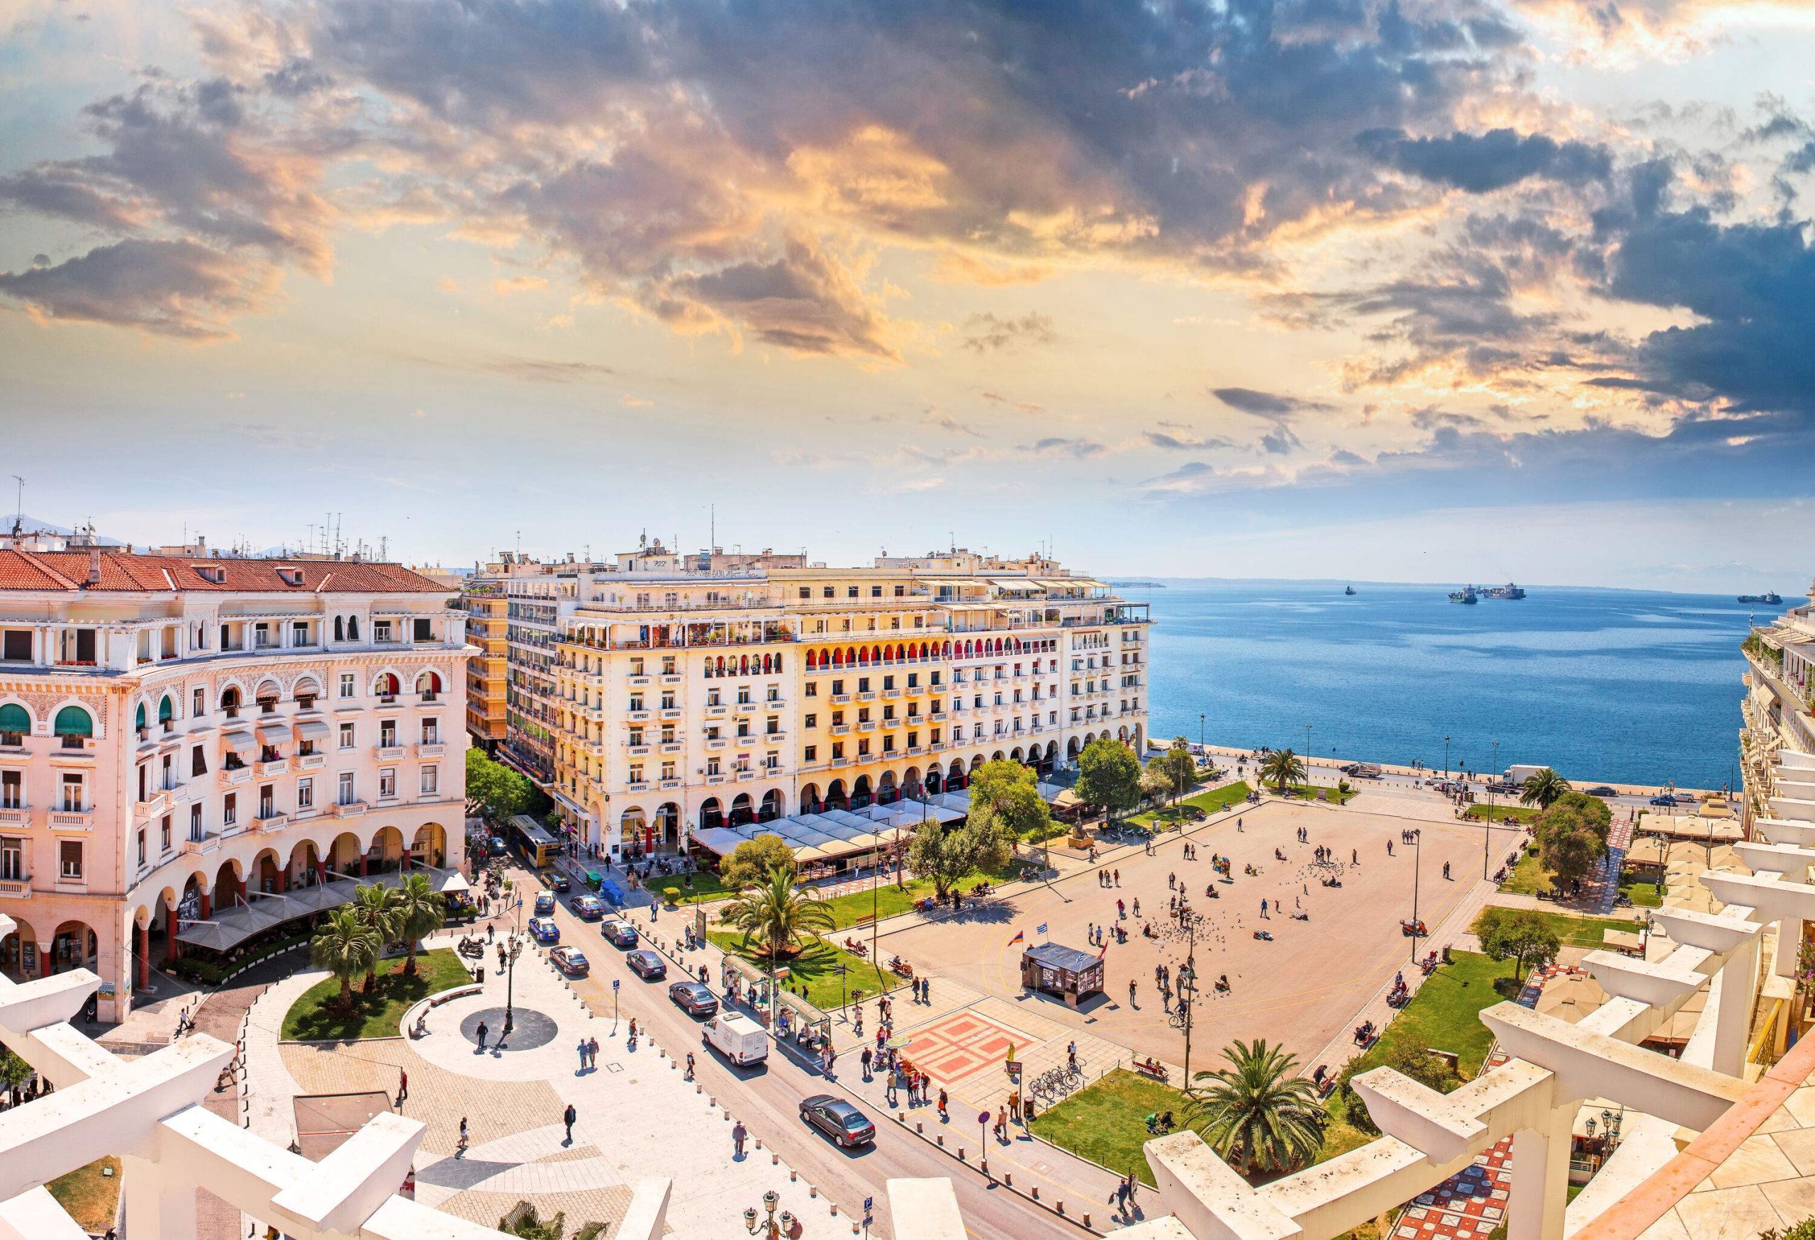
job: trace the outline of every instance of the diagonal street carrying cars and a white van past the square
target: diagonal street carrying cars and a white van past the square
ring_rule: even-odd
[[[534,893],[541,890],[541,884],[528,871],[512,868],[510,873],[521,884],[519,890],[528,893],[525,899],[532,900]],[[566,899],[557,900],[555,911],[561,942],[579,946],[592,964],[592,977],[574,982],[575,991],[590,999],[595,1009],[610,1011],[612,982],[621,982],[621,1019],[635,1017],[637,1028],[648,1029],[662,1049],[677,1058],[693,1051],[693,1077],[706,1086],[706,1093],[742,1120],[753,1140],[760,1138],[809,1184],[819,1186],[820,1195],[837,1202],[840,1218],[849,1215],[853,1222],[862,1224],[864,1198],[873,1196],[869,1235],[889,1240],[893,1231],[886,1182],[938,1176],[951,1180],[958,1193],[958,1207],[964,1211],[966,1231],[978,1240],[1024,1240],[1027,1236],[1082,1240],[1087,1235],[1015,1193],[989,1186],[975,1171],[937,1153],[924,1140],[898,1129],[893,1120],[873,1109],[868,1113],[877,1124],[875,1144],[855,1151],[835,1147],[800,1120],[800,1098],[813,1093],[839,1093],[835,1086],[828,1087],[817,1071],[773,1051],[768,1064],[755,1069],[726,1064],[704,1046],[699,1033],[701,1022],[668,1000],[668,982],[681,977],[673,962],[670,960],[668,966],[668,980],[644,982],[624,964],[624,953],[604,942],[599,935],[599,924],[575,917],[566,906]],[[668,919],[662,919],[657,930],[664,930],[668,924]],[[673,930],[681,930],[679,915],[673,919]],[[668,935],[662,939],[666,940]],[[855,1071],[855,1064],[851,1069]],[[1096,1218],[1107,1218],[1107,1207],[1102,1202],[1093,1204],[1091,1213]]]

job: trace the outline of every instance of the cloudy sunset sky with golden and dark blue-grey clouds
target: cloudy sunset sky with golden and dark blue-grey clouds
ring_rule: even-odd
[[[1815,0],[0,0],[0,474],[47,521],[263,548],[332,512],[445,565],[715,532],[1815,572]]]

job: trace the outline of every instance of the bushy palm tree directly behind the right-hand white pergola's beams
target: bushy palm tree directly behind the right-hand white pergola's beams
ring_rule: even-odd
[[[1207,1084],[1185,1111],[1189,1127],[1225,1162],[1240,1158],[1249,1178],[1310,1162],[1323,1144],[1325,1113],[1318,1087],[1294,1071],[1298,1058],[1265,1038],[1238,1038],[1223,1058],[1229,1068],[1198,1073]]]

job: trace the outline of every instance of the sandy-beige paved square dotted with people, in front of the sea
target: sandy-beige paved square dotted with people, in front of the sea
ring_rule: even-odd
[[[1401,832],[1421,826],[1419,850],[1401,842]],[[1305,828],[1309,841],[1300,842]],[[1189,841],[1198,859],[1183,859]],[[1387,844],[1392,844],[1392,855]],[[1332,850],[1330,862],[1318,862],[1314,850]],[[1274,850],[1285,855],[1278,861]],[[1232,879],[1221,881],[1211,870],[1211,855],[1232,859]],[[1452,881],[1443,879],[1450,862]],[[1252,864],[1260,875],[1245,875]],[[1022,1035],[1033,1028],[1058,1026],[1065,1037],[1094,1035],[1138,1055],[1153,1055],[1171,1064],[1183,1058],[1183,1033],[1172,1028],[1154,984],[1154,966],[1176,971],[1187,951],[1185,930],[1169,917],[1169,899],[1182,888],[1191,908],[1202,915],[1196,931],[1196,960],[1203,993],[1196,1008],[1192,1048],[1194,1068],[1207,1066],[1209,1055],[1232,1038],[1267,1037],[1307,1060],[1341,1033],[1354,1013],[1407,968],[1410,940],[1399,931],[1399,919],[1412,915],[1412,877],[1419,871],[1418,917],[1439,926],[1474,888],[1481,870],[1481,830],[1447,822],[1410,824],[1401,817],[1363,813],[1354,808],[1327,808],[1269,801],[1227,821],[1200,828],[1183,841],[1163,837],[1154,855],[1140,851],[1109,862],[1120,870],[1122,886],[1104,890],[1085,871],[1051,886],[1033,888],[949,920],[926,922],[889,933],[882,950],[900,953],[917,969],[929,971],[935,986],[953,986],[976,995],[996,997],[1006,1009],[996,1024]],[[1176,875],[1178,888],[1169,888]],[[1336,877],[1339,888],[1321,886]],[[1214,886],[1218,899],[1207,899]],[[1118,919],[1116,900],[1127,906]],[[1140,913],[1134,904],[1140,902]],[[1261,900],[1269,915],[1261,917]],[[1309,920],[1294,920],[1303,911]],[[1038,926],[1045,933],[1038,933]],[[1031,942],[1051,939],[1074,948],[1087,946],[1091,926],[1120,924],[1125,944],[1111,940],[1107,951],[1107,993],[1071,1008],[1056,999],[1031,995],[1020,988],[1020,955]],[[1156,939],[1142,933],[1153,926]],[[1269,931],[1272,940],[1254,939]],[[1016,933],[1024,942],[1013,942]],[[1428,948],[1441,948],[1427,940]],[[1427,950],[1428,950],[1427,948]],[[1231,989],[1216,993],[1212,982],[1227,973]],[[1129,982],[1134,997],[1129,997]],[[904,1004],[897,1002],[897,1024]],[[971,1020],[973,1017],[966,1017]],[[1002,1038],[982,1026],[976,1029],[940,1024],[918,1033],[927,1049],[940,1055],[982,1051]],[[949,1044],[949,1046],[947,1046]],[[1022,1048],[1027,1048],[1024,1037]]]

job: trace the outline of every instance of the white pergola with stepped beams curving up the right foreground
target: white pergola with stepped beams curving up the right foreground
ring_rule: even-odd
[[[1443,1095],[1378,1068],[1354,1078],[1381,1137],[1361,1149],[1261,1187],[1249,1186],[1203,1140],[1174,1133],[1147,1142],[1147,1162],[1171,1218],[1123,1229],[1127,1240],[1330,1240],[1436,1187],[1496,1142],[1512,1137],[1512,1240],[1563,1240],[1570,1127],[1588,1098],[1614,1100],[1670,1131],[1706,1129],[1746,1084],[1746,1049],[1761,940],[1777,926],[1768,989],[1795,973],[1802,922],[1815,919],[1815,821],[1764,819],[1757,842],[1737,846],[1751,875],[1704,873],[1726,908],[1713,913],[1655,910],[1675,948],[1659,960],[1592,951],[1584,966],[1610,995],[1577,1024],[1519,1004],[1496,1004],[1481,1020],[1512,1058]],[[1708,986],[1708,1002],[1683,1058],[1643,1042]],[[1626,1140],[1595,1187],[1624,1191],[1675,1153],[1668,1140]],[[1615,1162],[1628,1156],[1615,1171]],[[1644,1166],[1648,1160],[1650,1166]],[[1612,1173],[1612,1175],[1610,1175]],[[895,1195],[895,1184],[891,1196]],[[1588,1195],[1583,1204],[1590,1202]],[[897,1211],[900,1215],[900,1211]],[[1592,1215],[1581,1216],[1586,1224]],[[946,1233],[898,1229],[898,1240],[946,1240]]]

